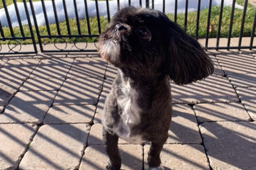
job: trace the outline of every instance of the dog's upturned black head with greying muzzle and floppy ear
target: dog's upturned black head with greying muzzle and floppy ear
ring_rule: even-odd
[[[160,11],[126,7],[99,37],[99,52],[109,63],[134,75],[169,75],[182,85],[213,72],[211,59],[194,38]]]

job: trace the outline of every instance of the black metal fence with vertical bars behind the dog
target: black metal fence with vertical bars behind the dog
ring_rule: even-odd
[[[21,0],[20,0],[21,1]],[[2,9],[0,10],[0,14],[4,13],[6,18],[1,17],[0,19],[0,54],[29,54],[29,53],[37,53],[38,52],[38,46],[42,52],[81,52],[81,51],[96,51],[97,46],[97,37],[99,37],[99,34],[102,32],[103,29],[105,29],[107,23],[111,20],[111,12],[113,12],[113,2],[112,0],[106,0],[104,2],[98,1],[98,0],[73,0],[70,4],[70,1],[67,0],[41,0],[37,2],[37,4],[34,4],[35,2],[32,0],[22,0],[22,2],[17,2],[16,0],[12,0],[12,8],[7,7],[10,3],[8,0],[2,0]],[[135,0],[128,0],[126,1],[126,5],[133,5],[133,2]],[[156,4],[155,2],[157,0],[137,0],[139,1],[139,5],[146,8],[155,8]],[[180,15],[179,11],[177,10],[177,4],[178,0],[169,0],[173,1],[175,3],[174,8],[174,14],[172,14],[172,19],[174,22],[177,22],[177,20],[180,20],[180,17],[183,17],[181,20],[183,20],[182,23],[179,23],[183,28],[184,31],[187,31],[187,28],[189,28],[188,25],[188,16],[189,16],[189,0],[185,0],[184,4],[184,14]],[[241,1],[241,0],[240,0]],[[79,4],[78,4],[79,2]],[[120,9],[120,6],[122,7],[122,3],[120,0],[115,0],[116,8],[117,10]],[[157,1],[159,2],[159,0]],[[161,10],[163,12],[166,12],[170,6],[167,6],[166,0],[163,0],[161,2]],[[195,14],[195,35],[194,37],[196,39],[204,38],[202,42],[203,46],[206,49],[252,49],[256,48],[255,45],[253,45],[253,40],[255,36],[255,27],[256,27],[256,11],[254,9],[253,14],[253,21],[251,21],[251,31],[249,36],[249,41],[246,43],[246,45],[242,44],[242,39],[244,38],[244,24],[246,23],[246,17],[247,17],[247,6],[248,6],[248,0],[244,0],[243,3],[243,9],[240,9],[242,12],[241,16],[241,22],[240,24],[240,30],[239,30],[239,36],[236,38],[236,44],[231,43],[232,38],[234,37],[232,35],[232,29],[233,29],[233,21],[235,17],[235,11],[236,9],[236,0],[233,0],[233,4],[230,6],[230,23],[227,35],[225,35],[225,45],[223,45],[223,40],[221,39],[222,33],[222,17],[223,17],[223,10],[224,10],[224,0],[221,1],[220,6],[218,6],[218,16],[215,16],[212,14],[212,0],[207,0],[208,3],[208,12],[207,12],[207,21],[201,21],[201,14],[200,14],[200,6],[202,2],[206,2],[206,0],[197,0],[197,11],[194,12]],[[39,3],[39,5],[38,5]],[[49,12],[47,11],[47,5],[52,7],[53,9],[53,16],[49,17]],[[63,13],[64,15],[64,21],[59,22],[60,14],[58,13],[58,6],[59,3],[61,3],[61,6],[63,7]],[[67,4],[68,3],[68,4]],[[94,11],[90,11],[93,6],[95,7]],[[105,8],[105,17],[101,16],[102,8],[99,8],[99,3],[104,3]],[[111,4],[110,4],[111,3]],[[90,6],[89,6],[90,5]],[[22,8],[20,8],[22,6]],[[112,7],[112,8],[111,8]],[[159,8],[159,5],[157,6]],[[69,19],[70,15],[70,9],[73,11],[73,17],[74,19]],[[22,10],[22,11],[20,11]],[[38,23],[38,16],[37,11],[41,10],[43,15],[41,15],[41,19],[43,18],[43,23]],[[10,14],[10,11],[12,11],[12,14]],[[15,14],[13,14],[13,11],[15,11]],[[81,14],[81,11],[84,12],[84,14]],[[94,16],[90,16],[89,12],[94,13]],[[25,14],[24,16],[21,16],[21,14]],[[83,15],[83,16],[81,16]],[[23,23],[23,20],[26,20],[26,23]],[[212,37],[211,35],[211,27],[212,27],[212,18],[218,17],[218,23],[217,27],[215,28],[216,34],[215,37]],[[225,16],[227,17],[227,16]],[[16,19],[16,25],[12,23],[13,18]],[[54,21],[49,21],[54,19]],[[3,25],[3,21],[5,21],[5,24]],[[204,36],[199,35],[200,30],[200,22],[204,22],[206,24],[204,30]],[[247,33],[248,37],[248,33]],[[214,41],[214,45],[212,46],[212,43],[209,43],[209,41]],[[92,43],[89,43],[92,42]],[[53,43],[55,45],[55,49],[48,49],[47,44]],[[4,45],[6,44],[6,45]],[[32,44],[32,49],[29,48],[29,51],[22,48],[26,46],[25,44]],[[93,45],[92,45],[93,44]],[[222,44],[222,45],[220,45]],[[4,49],[4,48],[5,49]]]

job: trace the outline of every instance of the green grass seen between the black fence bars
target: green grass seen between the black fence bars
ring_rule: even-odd
[[[22,0],[17,0],[17,2],[22,2]],[[237,0],[237,2],[243,6],[244,1],[243,0]],[[10,5],[12,4],[12,0],[6,0],[6,4]],[[2,1],[0,2],[0,7],[3,7]],[[220,8],[219,6],[213,6],[212,7],[212,12],[211,12],[211,19],[210,19],[210,25],[213,26],[214,30],[209,32],[209,37],[216,37],[217,36],[217,30],[218,30],[218,20],[219,20],[219,11]],[[245,23],[244,23],[244,37],[248,37],[251,34],[252,26],[253,26],[253,17],[254,17],[254,12],[255,8],[248,4],[247,6],[247,13],[245,17]],[[234,20],[233,20],[233,27],[232,27],[232,37],[238,37],[239,36],[239,31],[241,27],[241,17],[242,17],[243,10],[235,9],[234,13]],[[171,19],[174,20],[174,14],[167,14],[167,16]],[[229,31],[229,24],[230,24],[230,16],[231,16],[231,7],[224,7],[223,9],[223,15],[222,15],[222,23],[221,23],[221,37],[227,37],[228,31]],[[187,20],[187,33],[191,35],[192,37],[195,37],[195,31],[196,31],[196,18],[197,18],[197,13],[196,12],[190,12],[188,13],[188,20]],[[199,22],[199,31],[198,31],[198,36],[199,38],[205,38],[206,37],[206,29],[207,29],[207,18],[208,18],[208,8],[200,11],[200,22]],[[80,28],[81,28],[81,34],[88,34],[88,28],[87,28],[87,21],[86,19],[80,20]],[[178,14],[177,15],[177,23],[183,27],[184,26],[184,14]],[[70,29],[71,29],[71,34],[72,35],[77,35],[77,27],[76,27],[76,20],[70,19],[69,20],[70,24]],[[100,17],[100,24],[101,24],[101,31],[105,30],[107,28],[108,20],[107,18]],[[66,22],[61,22],[59,23],[60,29],[61,29],[61,34],[62,35],[67,35],[67,25]],[[51,24],[50,26],[50,32],[51,35],[58,35],[57,29],[56,29],[56,24]],[[90,17],[90,28],[91,28],[91,34],[97,35],[99,34],[98,30],[98,22],[96,17]],[[26,36],[31,36],[29,27],[28,26],[23,26],[24,32]],[[11,37],[9,28],[4,27],[4,34],[5,37]],[[13,28],[15,32],[15,37],[20,37],[20,28],[19,27],[14,27]],[[41,35],[47,35],[47,28],[46,26],[40,26],[39,31]],[[33,27],[33,32],[35,34],[35,27]],[[35,34],[36,37],[36,34]],[[37,37],[36,37],[37,40]],[[67,42],[74,42],[75,39],[66,39]],[[87,42],[93,42],[95,38],[86,38],[85,39]],[[38,40],[37,40],[38,41]],[[54,39],[41,39],[43,43],[52,43]],[[79,42],[84,41],[83,39],[79,39]],[[58,42],[58,41],[57,41]],[[59,41],[61,42],[61,41]],[[8,43],[7,41],[0,41],[0,44],[5,44]],[[15,42],[12,42],[15,43]],[[31,40],[20,40],[21,44],[31,44]]]

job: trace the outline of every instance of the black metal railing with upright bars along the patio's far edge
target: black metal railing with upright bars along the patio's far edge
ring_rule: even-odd
[[[15,15],[17,17],[17,28],[15,30],[19,30],[19,34],[17,34],[14,31],[14,27],[12,26],[12,17],[9,14],[10,8],[7,8],[6,5],[6,0],[2,0],[2,5],[3,5],[3,9],[2,12],[4,11],[6,14],[6,20],[7,20],[7,26],[3,26],[2,25],[2,21],[0,20],[0,41],[2,43],[6,43],[7,44],[7,50],[4,51],[2,46],[0,45],[0,54],[29,54],[29,53],[37,53],[38,52],[38,48],[37,48],[37,44],[39,45],[39,48],[41,50],[41,52],[81,52],[81,51],[87,51],[87,52],[92,52],[92,51],[96,51],[97,47],[96,47],[96,41],[97,41],[97,37],[99,37],[99,34],[101,34],[102,32],[102,17],[100,16],[100,12],[99,11],[99,2],[98,0],[95,0],[95,9],[96,9],[96,17],[90,17],[88,14],[88,2],[89,0],[84,0],[83,4],[77,4],[76,0],[73,0],[73,8],[74,8],[74,13],[75,13],[75,19],[73,19],[72,23],[70,23],[70,19],[69,19],[69,14],[68,14],[68,9],[70,8],[70,6],[67,6],[66,4],[66,0],[62,0],[62,5],[63,5],[63,9],[64,9],[64,18],[65,21],[64,23],[66,24],[65,26],[65,31],[62,30],[62,28],[60,27],[60,22],[58,20],[58,11],[56,8],[56,2],[54,0],[51,0],[50,2],[52,2],[52,7],[53,7],[53,13],[54,13],[54,20],[55,22],[52,24],[49,22],[49,18],[48,18],[48,13],[47,13],[47,8],[46,8],[46,1],[45,0],[41,0],[41,8],[44,14],[44,23],[45,26],[39,26],[38,24],[38,18],[36,17],[36,10],[35,6],[33,4],[32,0],[27,0],[28,2],[26,2],[26,0],[23,0],[23,6],[24,6],[24,11],[26,13],[26,26],[22,25],[22,20],[21,20],[21,16],[20,16],[20,11],[18,8],[18,4],[16,0],[12,0],[13,2],[13,8],[15,8]],[[122,6],[122,4],[120,4],[120,0],[116,0],[117,1],[117,6],[116,8],[119,10],[120,6]],[[134,0],[133,0],[134,1]],[[156,0],[138,0],[140,6],[146,7],[146,8],[155,8],[155,1]],[[171,1],[171,0],[170,0]],[[178,4],[178,0],[173,0],[175,3],[175,8],[174,8],[174,22],[177,22],[177,16],[178,16],[178,11],[177,11],[177,4]],[[49,2],[49,1],[48,1]],[[47,3],[48,3],[47,2]],[[111,20],[111,9],[110,9],[110,0],[106,0],[105,1],[105,8],[106,8],[106,20],[107,22],[109,22]],[[163,0],[162,2],[162,11],[166,12],[166,9],[169,8],[169,6],[166,6],[166,2],[165,0]],[[91,1],[90,1],[91,3]],[[102,3],[102,1],[100,2]],[[198,30],[199,30],[199,23],[200,23],[200,6],[201,6],[202,1],[201,0],[197,0],[197,7],[198,10],[196,11],[196,28],[195,28],[195,38],[198,39],[199,38],[199,34],[198,34]],[[239,32],[239,37],[238,37],[238,44],[235,45],[231,45],[231,38],[232,38],[232,28],[233,28],[233,20],[234,20],[234,11],[235,11],[235,3],[236,0],[233,0],[233,4],[231,6],[231,15],[230,15],[230,24],[229,24],[229,30],[228,30],[228,34],[227,34],[227,45],[225,46],[220,46],[220,40],[221,40],[221,25],[222,25],[222,15],[223,15],[223,9],[224,9],[224,0],[221,1],[221,4],[219,6],[219,20],[218,20],[218,29],[217,29],[217,34],[215,37],[215,42],[216,45],[214,46],[209,46],[209,28],[211,27],[211,10],[212,10],[212,0],[208,0],[208,19],[207,19],[207,27],[205,28],[205,43],[204,43],[204,47],[206,50],[208,49],[252,49],[252,48],[256,48],[256,46],[253,46],[253,40],[254,40],[254,36],[255,36],[255,27],[256,27],[256,12],[254,13],[254,19],[253,19],[253,26],[251,28],[251,34],[250,34],[250,43],[246,46],[242,45],[242,38],[243,38],[243,31],[244,31],[244,23],[245,23],[245,17],[246,17],[246,12],[247,12],[247,5],[248,5],[248,0],[244,0],[244,8],[243,8],[243,12],[242,12],[242,17],[241,17],[241,26],[240,26],[240,32]],[[188,26],[188,4],[189,4],[189,0],[185,1],[185,14],[184,14],[184,22],[182,27],[184,28],[184,31],[187,31],[187,26]],[[70,5],[70,4],[69,4]],[[128,0],[128,5],[131,6],[132,2],[131,0]],[[79,8],[84,8],[84,12],[85,12],[85,16],[84,19],[82,19],[81,17],[79,17],[79,11],[78,11],[78,7]],[[31,17],[32,16],[32,17]],[[94,19],[94,25],[92,25],[92,21],[91,19]],[[63,24],[63,23],[62,23]],[[26,29],[28,29],[29,31],[27,31],[25,33],[24,28],[26,27]],[[86,27],[86,31],[83,32],[81,30],[81,27],[84,28]],[[91,31],[92,28],[96,28],[96,32],[95,31]],[[42,34],[41,30],[44,29],[46,31],[46,33]],[[54,29],[55,33],[52,34],[52,30]],[[76,30],[75,34],[71,31],[71,30]],[[84,29],[83,29],[84,30]],[[6,33],[8,32],[8,34]],[[29,43],[32,43],[32,50],[30,51],[26,51],[25,50],[21,50],[23,48],[23,44],[26,44],[27,41],[29,41]],[[50,42],[50,43],[54,43],[55,45],[55,49],[47,49],[45,43],[46,42]],[[25,43],[26,42],[26,43]],[[80,43],[81,42],[81,43]],[[94,42],[94,46],[93,47],[89,47],[87,45],[87,42]],[[15,44],[15,45],[12,45]],[[71,45],[70,45],[71,44]],[[83,47],[81,47],[81,45],[84,45]]]

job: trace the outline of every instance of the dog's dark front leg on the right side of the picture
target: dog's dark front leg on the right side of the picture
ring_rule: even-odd
[[[161,166],[160,153],[163,149],[163,143],[151,142],[150,150],[148,151],[148,170],[164,170]]]

